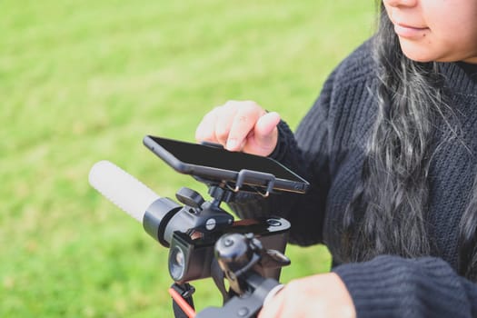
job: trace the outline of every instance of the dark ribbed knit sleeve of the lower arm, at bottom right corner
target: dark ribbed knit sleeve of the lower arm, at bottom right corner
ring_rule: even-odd
[[[383,255],[334,268],[359,317],[477,317],[477,285],[439,258]]]

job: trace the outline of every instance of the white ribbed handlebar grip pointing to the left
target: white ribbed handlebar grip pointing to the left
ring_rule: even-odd
[[[89,184],[141,223],[147,208],[160,198],[134,176],[107,160],[93,165]]]

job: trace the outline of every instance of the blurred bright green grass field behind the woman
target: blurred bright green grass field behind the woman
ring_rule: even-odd
[[[87,183],[107,159],[162,196],[144,134],[194,141],[214,105],[253,99],[295,127],[373,32],[373,1],[0,2],[0,316],[172,317],[167,250]],[[289,246],[283,282],[325,272]],[[219,305],[194,283],[200,310]]]

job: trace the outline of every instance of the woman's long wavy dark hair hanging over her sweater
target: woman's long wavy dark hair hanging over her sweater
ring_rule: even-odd
[[[378,112],[362,179],[344,213],[341,262],[361,262],[383,253],[419,257],[434,251],[426,224],[428,172],[435,151],[430,141],[438,119],[452,127],[452,111],[443,99],[438,65],[403,55],[381,1],[378,8],[380,21],[373,38]],[[457,130],[452,128],[449,138]],[[477,272],[476,230],[473,195],[462,216],[459,260],[460,272],[472,279]]]

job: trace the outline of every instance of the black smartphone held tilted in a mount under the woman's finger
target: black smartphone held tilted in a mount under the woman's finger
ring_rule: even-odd
[[[272,158],[230,152],[218,144],[193,144],[146,135],[144,145],[175,171],[217,183],[236,184],[266,189],[273,178],[273,190],[305,193],[306,182],[298,174]],[[243,174],[246,173],[246,174]]]

